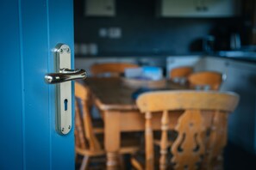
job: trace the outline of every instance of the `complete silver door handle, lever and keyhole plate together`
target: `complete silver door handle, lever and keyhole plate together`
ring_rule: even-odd
[[[71,70],[71,49],[58,44],[54,49],[55,73],[45,76],[56,86],[56,131],[66,135],[72,130],[72,80],[86,78],[85,70]]]

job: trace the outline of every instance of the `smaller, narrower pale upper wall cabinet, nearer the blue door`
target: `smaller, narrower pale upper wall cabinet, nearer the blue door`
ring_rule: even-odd
[[[115,0],[85,0],[85,16],[115,16]]]

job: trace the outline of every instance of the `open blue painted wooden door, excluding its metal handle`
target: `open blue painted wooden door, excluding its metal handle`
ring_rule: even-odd
[[[55,85],[44,82],[57,44],[71,47],[73,67],[72,10],[72,0],[1,1],[1,170],[74,169],[74,125],[56,132]]]

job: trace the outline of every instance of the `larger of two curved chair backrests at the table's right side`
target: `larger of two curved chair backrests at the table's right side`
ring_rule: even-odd
[[[199,71],[190,74],[190,88],[218,90],[222,84],[222,73],[215,71]]]

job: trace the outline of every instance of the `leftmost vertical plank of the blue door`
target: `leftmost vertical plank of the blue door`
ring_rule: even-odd
[[[11,7],[7,10],[6,7]],[[1,136],[0,169],[22,167],[22,77],[19,36],[19,11],[15,1],[0,6],[1,22]],[[7,17],[8,16],[8,17]],[[9,40],[6,40],[9,39]],[[4,58],[4,59],[3,59]],[[16,61],[11,63],[11,61]],[[11,79],[11,77],[13,77]],[[10,105],[11,104],[11,105]],[[17,143],[15,143],[17,142]],[[13,143],[13,144],[9,144]],[[12,160],[16,160],[13,163]],[[9,166],[10,165],[10,166]]]

